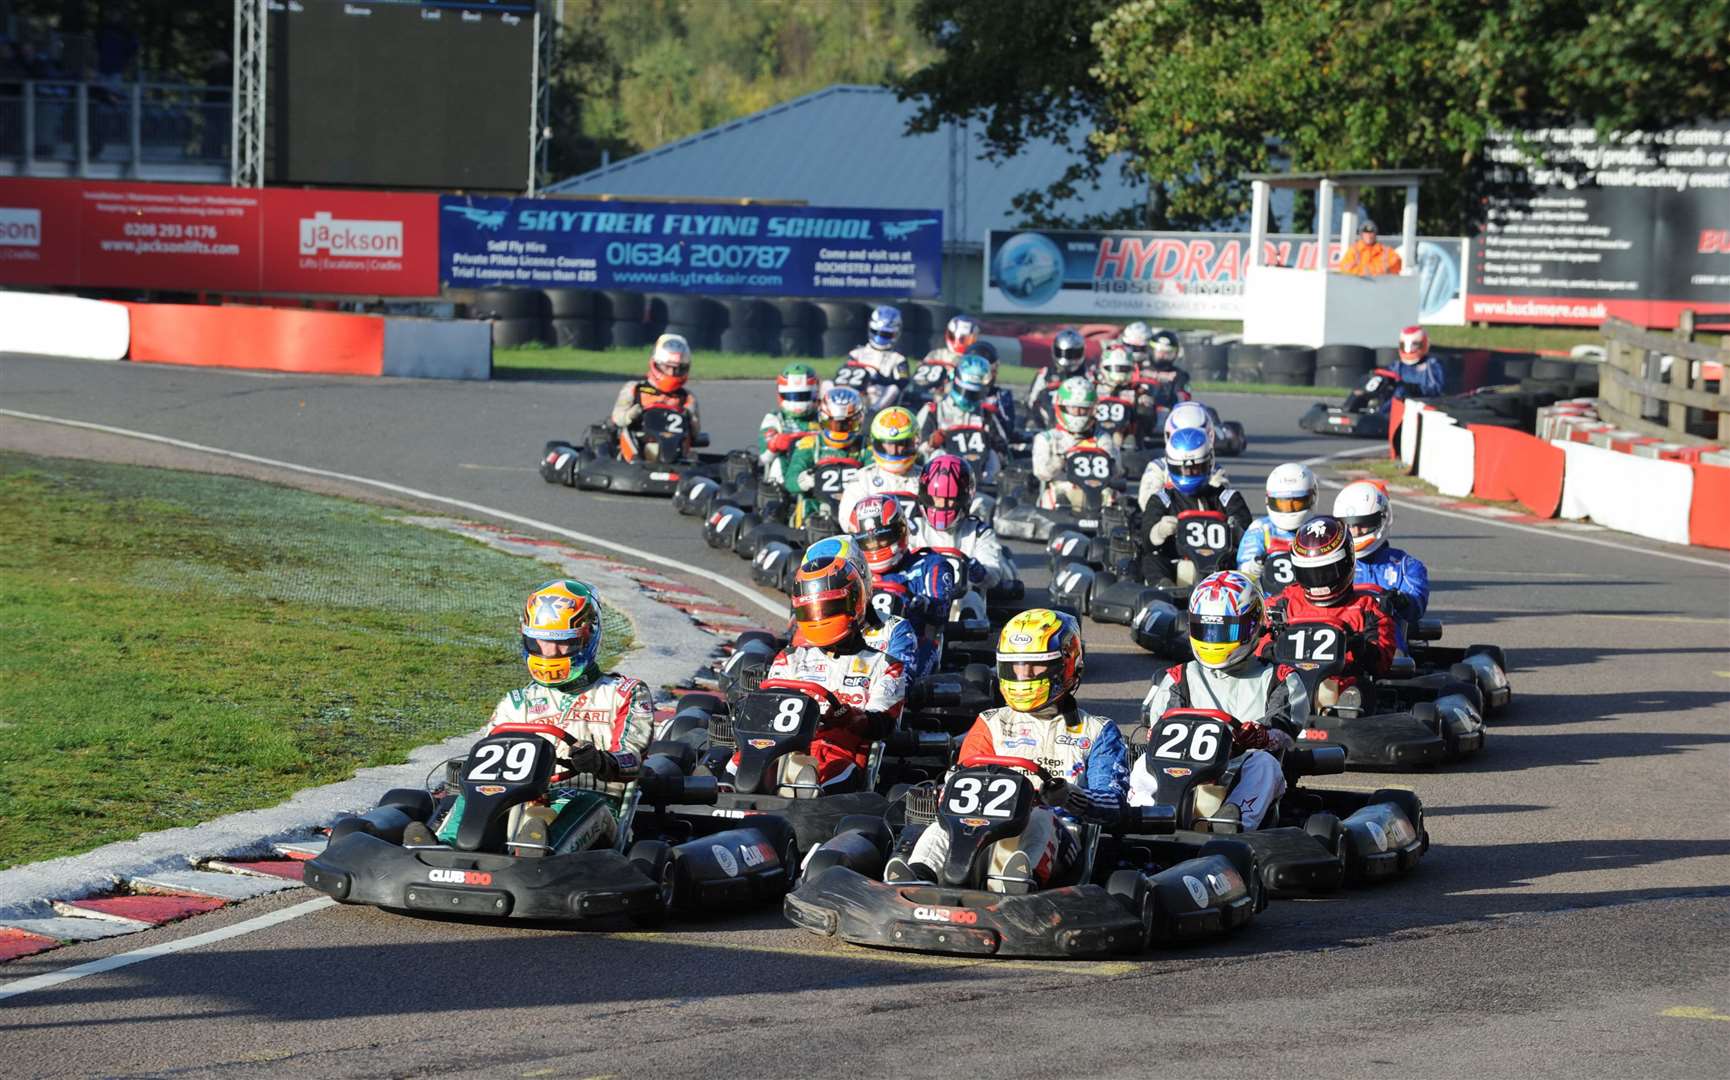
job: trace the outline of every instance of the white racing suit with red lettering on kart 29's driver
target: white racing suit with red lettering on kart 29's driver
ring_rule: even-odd
[[[521,691],[505,694],[493,717],[486,722],[488,730],[500,723],[555,723],[576,736],[580,742],[588,742],[606,751],[599,775],[573,775],[550,793],[554,813],[548,829],[548,843],[559,843],[578,822],[590,819],[595,807],[606,805],[618,810],[619,796],[625,794],[621,777],[637,772],[644,749],[654,732],[654,699],[649,687],[625,675],[602,675],[590,668],[586,680],[569,682],[564,687],[548,687],[531,682]],[[564,753],[561,742],[561,756]],[[599,815],[593,815],[600,820]],[[457,836],[462,822],[462,798],[439,826],[439,839],[450,843]],[[611,815],[599,826],[602,832],[583,845],[583,850],[607,846],[618,838],[618,820]]]

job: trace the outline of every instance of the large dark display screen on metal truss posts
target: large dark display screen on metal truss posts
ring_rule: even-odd
[[[272,0],[270,183],[522,190],[535,3]]]

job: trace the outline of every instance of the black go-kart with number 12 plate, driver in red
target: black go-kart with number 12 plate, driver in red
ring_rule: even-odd
[[[1386,675],[1358,675],[1339,691],[1349,649],[1342,628],[1273,621],[1270,630],[1273,659],[1294,666],[1310,691],[1310,727],[1298,732],[1304,746],[1339,746],[1349,765],[1436,765],[1483,749],[1484,703],[1476,682],[1419,675],[1410,656],[1396,656]]]

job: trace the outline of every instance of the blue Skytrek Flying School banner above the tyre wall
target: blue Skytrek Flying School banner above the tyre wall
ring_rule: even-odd
[[[938,296],[943,213],[574,199],[439,199],[450,287]]]

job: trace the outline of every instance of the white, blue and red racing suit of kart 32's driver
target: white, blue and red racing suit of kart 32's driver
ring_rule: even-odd
[[[1045,772],[1067,781],[1088,807],[1085,817],[1102,822],[1116,820],[1123,807],[1124,781],[1130,774],[1130,751],[1118,723],[1109,717],[1088,713],[1071,698],[1052,717],[1019,713],[1007,704],[979,713],[958,756],[965,768],[981,756],[1031,758]],[[1010,852],[1028,855],[1033,878],[1043,888],[1062,881],[1080,857],[1080,843],[1064,826],[1073,820],[1067,810],[1035,807],[1021,836],[998,841],[991,852],[991,874],[998,874]],[[950,838],[943,829],[927,827],[913,843],[908,862],[927,869],[941,869],[950,857]]]

